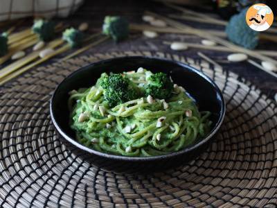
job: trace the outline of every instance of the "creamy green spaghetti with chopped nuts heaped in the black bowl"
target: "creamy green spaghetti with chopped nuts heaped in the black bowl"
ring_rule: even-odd
[[[130,87],[128,96],[119,88],[108,92],[107,82],[116,76]],[[181,150],[210,131],[210,112],[199,112],[183,87],[154,83],[151,91],[154,74],[142,68],[116,76],[103,73],[96,85],[70,92],[70,124],[81,144],[103,153],[152,157]]]

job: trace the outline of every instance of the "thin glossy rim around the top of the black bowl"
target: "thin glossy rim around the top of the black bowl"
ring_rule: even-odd
[[[55,115],[53,113],[53,103],[54,103],[54,98],[55,98],[55,94],[57,93],[57,90],[60,88],[60,86],[66,82],[66,80],[70,79],[71,77],[75,76],[75,74],[79,73],[79,71],[83,71],[83,70],[87,70],[91,67],[93,67],[96,64],[103,64],[105,62],[111,62],[114,60],[125,60],[125,59],[145,59],[145,60],[157,60],[157,61],[166,61],[166,62],[171,62],[172,64],[177,64],[182,68],[188,69],[190,71],[193,71],[194,73],[196,73],[198,76],[201,76],[202,78],[204,78],[205,80],[208,81],[208,83],[210,83],[211,85],[213,85],[213,87],[215,88],[215,91],[217,92],[217,94],[220,95],[220,100],[222,101],[222,105],[221,105],[221,109],[220,109],[220,118],[217,120],[217,123],[215,124],[215,127],[213,128],[213,130],[211,130],[211,132],[209,132],[209,134],[204,137],[204,139],[201,139],[201,141],[199,141],[197,144],[194,144],[192,146],[188,146],[187,148],[184,148],[182,150],[179,150],[177,152],[173,152],[173,153],[169,153],[166,155],[157,155],[157,156],[153,156],[153,157],[127,157],[127,156],[122,156],[122,155],[112,155],[109,153],[101,153],[98,152],[97,150],[93,150],[92,148],[88,148],[87,146],[84,146],[82,144],[80,144],[78,141],[75,141],[75,139],[73,139],[72,137],[70,137],[69,135],[67,135],[62,128],[60,127],[59,123],[57,123],[57,121],[55,120]],[[222,95],[222,92],[220,90],[220,88],[215,84],[215,82],[213,80],[211,80],[211,78],[209,78],[208,76],[206,76],[202,71],[199,71],[198,69],[195,69],[194,67],[191,67],[188,64],[185,64],[183,62],[179,62],[176,60],[169,60],[166,58],[156,58],[156,57],[150,57],[150,56],[141,56],[141,55],[136,55],[136,56],[125,56],[125,57],[118,57],[118,58],[109,58],[107,60],[100,60],[98,62],[92,62],[90,64],[85,65],[84,67],[80,67],[79,69],[73,71],[72,73],[70,73],[68,76],[66,76],[66,78],[64,78],[62,80],[62,82],[60,82],[60,84],[58,84],[55,87],[55,90],[51,96],[51,101],[50,101],[50,115],[51,115],[51,120],[56,128],[56,130],[60,133],[60,136],[64,137],[64,139],[66,139],[67,141],[69,141],[71,144],[73,144],[75,147],[80,148],[81,150],[84,150],[87,153],[93,154],[93,155],[98,155],[100,157],[106,157],[108,159],[117,159],[117,160],[125,160],[125,161],[154,161],[157,159],[168,159],[169,157],[176,157],[178,155],[183,155],[184,153],[188,153],[196,148],[198,148],[199,146],[202,146],[203,144],[206,144],[206,142],[208,142],[214,135],[215,133],[220,129],[220,126],[222,125],[222,122],[224,121],[224,116],[226,113],[226,103],[224,101],[224,97]]]

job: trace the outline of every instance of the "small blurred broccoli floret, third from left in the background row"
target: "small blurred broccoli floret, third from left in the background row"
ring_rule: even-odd
[[[69,28],[62,33],[62,39],[68,42],[71,48],[77,48],[82,44],[84,35],[82,32],[76,30],[75,28]]]

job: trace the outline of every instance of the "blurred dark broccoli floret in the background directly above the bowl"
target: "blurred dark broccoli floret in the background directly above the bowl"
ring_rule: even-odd
[[[116,42],[124,40],[129,35],[129,23],[124,17],[106,16],[102,32]]]

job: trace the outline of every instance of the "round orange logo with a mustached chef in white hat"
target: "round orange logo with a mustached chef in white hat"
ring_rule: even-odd
[[[273,23],[274,15],[269,6],[256,3],[247,10],[245,19],[252,30],[266,31]]]

